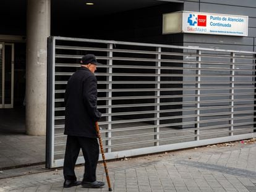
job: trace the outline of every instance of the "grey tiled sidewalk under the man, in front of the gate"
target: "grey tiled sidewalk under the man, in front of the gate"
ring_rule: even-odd
[[[226,146],[225,146],[226,145]],[[256,191],[256,143],[212,145],[108,162],[113,191]],[[13,170],[15,172],[15,169]],[[83,167],[76,168],[82,179]],[[103,165],[98,180],[106,182]],[[108,191],[80,186],[62,188],[62,169],[0,180],[0,191]]]

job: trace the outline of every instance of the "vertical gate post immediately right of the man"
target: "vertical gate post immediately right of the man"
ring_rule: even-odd
[[[112,73],[113,73],[113,68],[111,67],[113,65],[113,44],[108,44],[108,68],[107,68],[107,73],[109,74],[106,78],[106,80],[108,81],[108,90],[112,89]],[[107,106],[108,107],[108,111],[107,114],[108,116],[106,117],[106,120],[108,122],[108,132],[106,132],[106,146],[111,146],[111,129],[112,129],[112,108],[110,107],[112,105],[112,91],[108,91],[107,93],[107,97],[108,97],[108,101],[107,101]],[[106,152],[111,152],[111,148],[106,148]]]

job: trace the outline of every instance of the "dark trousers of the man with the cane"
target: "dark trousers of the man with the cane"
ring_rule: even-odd
[[[83,157],[85,158],[83,182],[94,182],[96,180],[96,167],[100,152],[98,140],[82,136],[67,136],[63,167],[64,178],[65,180],[77,180],[74,169],[80,149],[82,149]]]

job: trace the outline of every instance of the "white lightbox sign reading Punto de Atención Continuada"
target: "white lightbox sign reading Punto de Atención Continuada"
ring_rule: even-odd
[[[187,11],[163,14],[163,34],[169,33],[248,36],[248,16]]]

